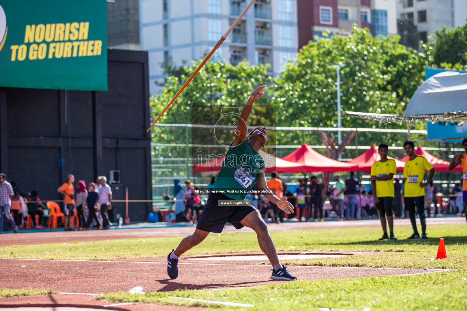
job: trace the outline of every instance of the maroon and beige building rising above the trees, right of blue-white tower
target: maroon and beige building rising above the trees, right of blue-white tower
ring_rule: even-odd
[[[354,24],[373,35],[397,33],[396,0],[297,0],[297,8],[300,47],[326,31],[350,34]]]

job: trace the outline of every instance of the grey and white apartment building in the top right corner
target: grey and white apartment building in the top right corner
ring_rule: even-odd
[[[398,33],[401,43],[418,48],[444,26],[455,28],[466,22],[466,0],[397,0]]]

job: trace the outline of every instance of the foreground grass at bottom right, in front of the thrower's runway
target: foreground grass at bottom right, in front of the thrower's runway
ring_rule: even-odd
[[[100,295],[111,302],[146,302],[157,304],[191,303],[170,298],[189,297],[253,304],[252,308],[218,305],[222,309],[283,311],[337,308],[347,310],[467,310],[467,270],[449,270],[412,276],[374,276],[346,279],[317,279],[224,290],[178,290],[170,293]]]

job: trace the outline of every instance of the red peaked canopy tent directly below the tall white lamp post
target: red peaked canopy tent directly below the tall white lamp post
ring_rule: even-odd
[[[358,169],[358,166],[329,159],[311,149],[307,144],[303,144],[296,151],[282,159],[301,164],[303,168],[302,173],[355,171]]]

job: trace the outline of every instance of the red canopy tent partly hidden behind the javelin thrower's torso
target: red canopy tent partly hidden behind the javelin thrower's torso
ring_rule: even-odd
[[[277,158],[268,152],[260,150],[258,152],[264,159],[264,165],[266,167],[266,173],[277,172],[277,173],[301,173],[303,166],[298,163],[289,162],[281,158]],[[220,171],[222,162],[226,157],[218,157],[204,163],[199,163],[193,166],[193,173],[204,173]]]

